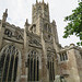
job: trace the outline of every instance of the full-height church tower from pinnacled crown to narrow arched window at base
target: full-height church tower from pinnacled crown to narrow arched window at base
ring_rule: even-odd
[[[55,61],[56,52],[59,50],[59,40],[57,34],[56,22],[50,23],[48,3],[38,2],[33,4],[32,25],[30,32],[40,37],[43,55],[42,71],[43,82],[54,81],[57,74],[57,61]],[[50,71],[50,72],[49,72]]]

